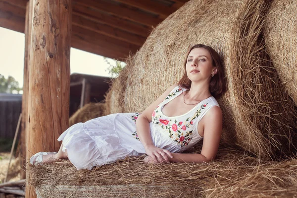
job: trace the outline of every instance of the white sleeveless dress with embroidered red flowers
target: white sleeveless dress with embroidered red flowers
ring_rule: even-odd
[[[183,152],[194,146],[201,137],[198,122],[213,106],[219,106],[214,97],[198,103],[181,116],[168,117],[162,113],[165,104],[186,89],[175,87],[152,113],[149,123],[150,135],[155,146],[170,152]],[[146,153],[136,132],[136,119],[140,113],[117,113],[77,123],[63,132],[63,141],[69,160],[78,169],[91,170],[104,165]]]

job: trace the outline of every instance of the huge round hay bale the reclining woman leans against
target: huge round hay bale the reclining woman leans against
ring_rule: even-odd
[[[231,6],[232,5],[232,6]],[[223,57],[228,91],[222,140],[278,160],[294,149],[297,111],[265,52],[269,1],[191,0],[160,23],[130,62],[124,113],[142,112],[184,73],[188,48],[202,43]]]

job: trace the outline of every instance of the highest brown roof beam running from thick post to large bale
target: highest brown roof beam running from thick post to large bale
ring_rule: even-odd
[[[102,24],[115,27],[117,29],[125,30],[130,33],[148,37],[149,32],[152,28],[142,26],[140,24],[133,23],[131,21],[122,20],[113,15],[107,15],[102,12],[98,12],[94,9],[90,9],[84,5],[74,4],[73,14],[83,16],[89,20],[93,20]]]

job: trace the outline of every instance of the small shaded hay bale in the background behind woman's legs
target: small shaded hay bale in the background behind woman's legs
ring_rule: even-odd
[[[84,123],[93,118],[104,116],[105,104],[104,103],[88,103],[79,110],[77,110],[69,118],[69,127],[76,123]]]

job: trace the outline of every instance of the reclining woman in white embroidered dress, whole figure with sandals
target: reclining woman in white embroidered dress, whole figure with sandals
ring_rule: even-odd
[[[208,162],[215,158],[222,111],[215,98],[226,90],[223,62],[209,46],[187,54],[182,79],[142,113],[118,113],[78,123],[58,138],[57,153],[39,152],[30,163],[69,159],[78,169],[146,153],[144,162]],[[200,154],[181,153],[203,138]]]

